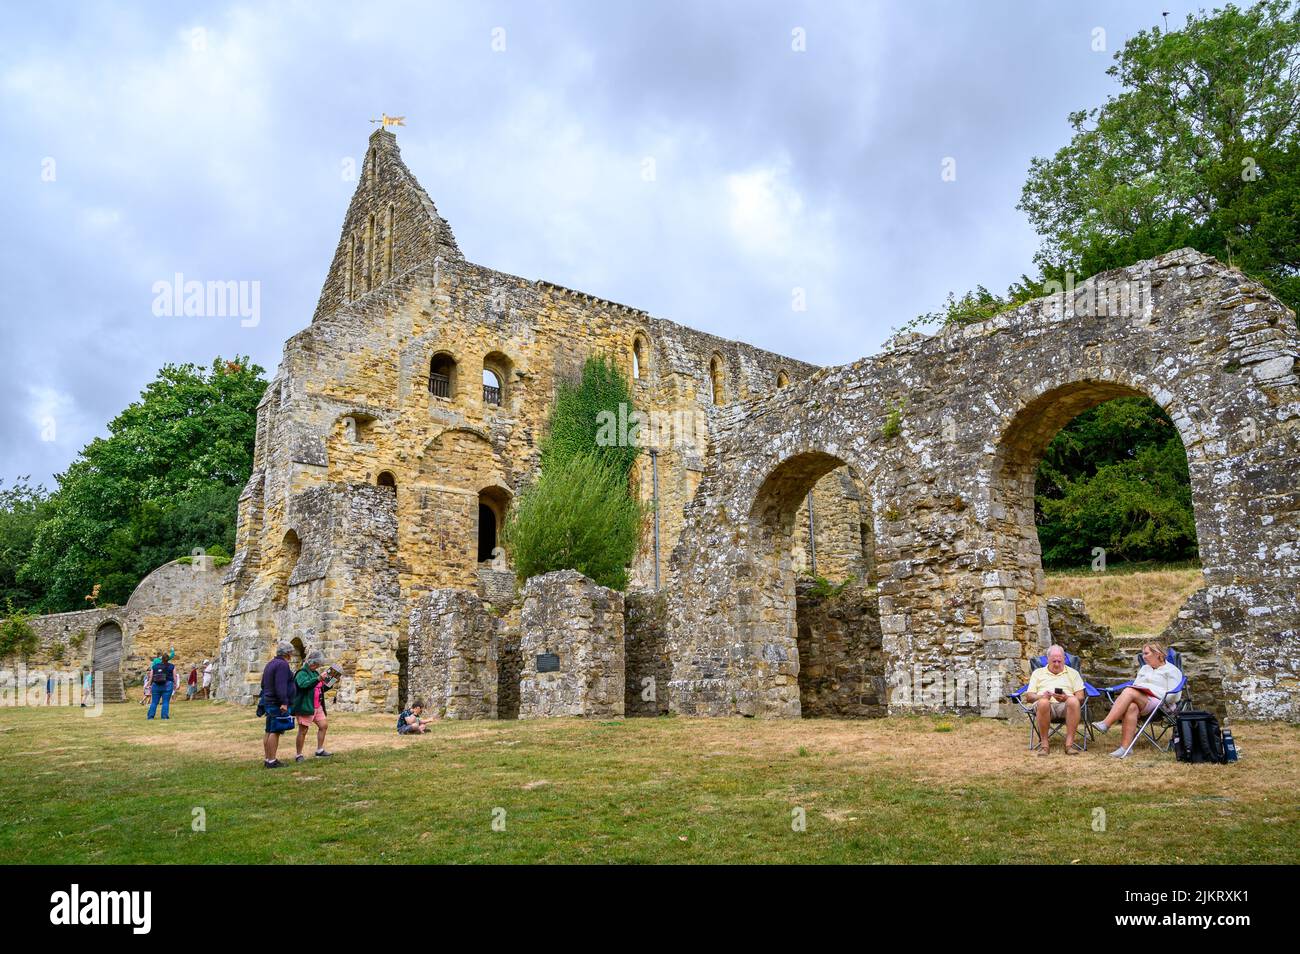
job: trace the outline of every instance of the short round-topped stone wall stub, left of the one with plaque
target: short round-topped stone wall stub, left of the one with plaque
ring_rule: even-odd
[[[438,719],[495,719],[498,629],[473,593],[433,590],[416,600],[403,704],[422,699]]]

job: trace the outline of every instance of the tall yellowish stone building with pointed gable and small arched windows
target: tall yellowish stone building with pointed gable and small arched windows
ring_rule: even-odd
[[[637,407],[653,415],[641,433],[658,441],[658,454],[653,461],[641,455],[634,483],[656,503],[660,546],[656,554],[647,521],[632,577],[650,586],[656,559],[667,576],[719,421],[737,402],[815,368],[467,261],[394,136],[377,131],[316,315],[285,344],[257,411],[254,472],[239,502],[224,600],[221,695],[250,699],[274,634],[316,626],[296,619],[286,604],[295,598],[277,580],[295,502],[321,487],[374,486],[381,477],[393,485],[385,489],[395,507],[391,567],[404,607],[442,587],[486,586],[494,603],[504,602],[499,580],[485,578],[477,560],[480,502],[508,509],[536,472],[537,442],[562,380],[578,374],[590,355],[612,355],[630,374],[638,346],[632,389]],[[445,389],[432,389],[434,356],[454,363]],[[499,403],[482,390],[485,368],[500,377]],[[835,500],[826,507],[829,515]],[[326,589],[326,602],[342,599],[335,584]],[[381,706],[381,697],[393,697],[380,689],[343,704]]]

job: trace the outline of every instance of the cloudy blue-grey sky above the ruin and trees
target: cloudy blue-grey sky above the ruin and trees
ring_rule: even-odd
[[[381,112],[472,261],[818,364],[871,354],[1031,268],[1030,159],[1114,91],[1126,38],[1193,6],[9,8],[0,478],[52,485],[165,363],[269,376]],[[177,273],[259,282],[256,325],[155,315]]]

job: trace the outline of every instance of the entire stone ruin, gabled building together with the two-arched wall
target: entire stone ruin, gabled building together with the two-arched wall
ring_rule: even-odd
[[[597,354],[675,425],[633,474],[654,520],[627,594],[519,594],[499,528],[558,382]],[[468,263],[377,131],[259,407],[217,691],[250,701],[294,637],[342,664],[344,710],[997,715],[1078,623],[1045,598],[1041,452],[1145,395],[1187,450],[1204,564],[1171,638],[1226,711],[1295,719],[1297,355],[1294,313],[1183,250],[819,369]]]

